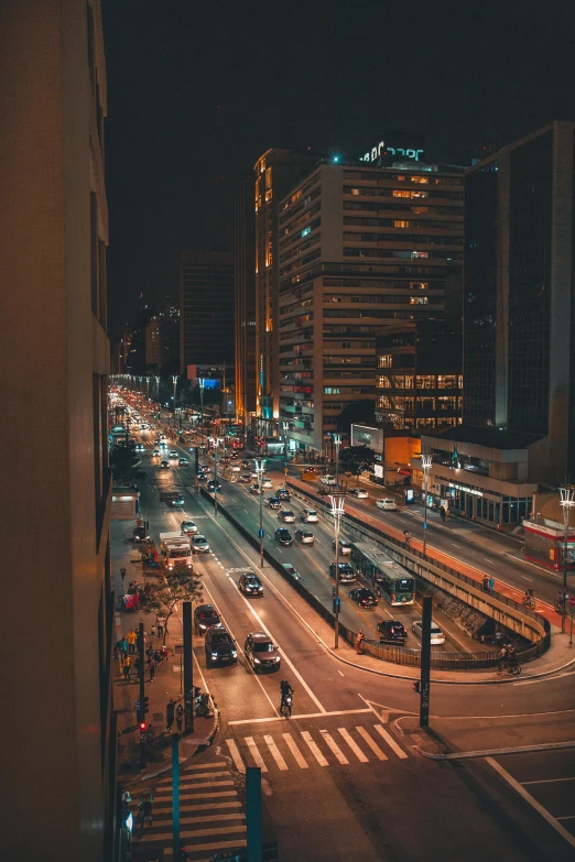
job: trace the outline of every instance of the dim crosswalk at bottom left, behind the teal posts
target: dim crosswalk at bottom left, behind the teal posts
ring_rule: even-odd
[[[152,787],[137,787],[134,803],[141,793],[153,792],[153,821],[145,831],[135,829],[133,845],[144,849],[150,859],[171,859],[172,777]],[[191,862],[205,862],[214,853],[246,847],[246,816],[227,761],[192,764],[180,776],[180,837]],[[155,853],[155,855],[154,855]],[[147,855],[148,859],[148,855]]]

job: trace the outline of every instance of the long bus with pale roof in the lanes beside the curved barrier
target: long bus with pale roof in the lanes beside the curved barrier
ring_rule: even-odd
[[[375,542],[355,542],[351,561],[380,599],[390,604],[413,604],[415,579]]]

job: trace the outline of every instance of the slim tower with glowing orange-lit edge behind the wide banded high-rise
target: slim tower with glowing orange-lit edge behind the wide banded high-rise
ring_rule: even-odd
[[[317,155],[272,149],[256,162],[256,357],[260,433],[279,418],[278,203]]]

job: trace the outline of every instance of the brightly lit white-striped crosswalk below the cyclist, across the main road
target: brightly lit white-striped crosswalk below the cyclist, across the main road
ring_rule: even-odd
[[[370,728],[294,730],[275,736],[260,735],[226,739],[227,753],[236,770],[259,766],[262,773],[308,770],[311,766],[350,766],[388,760],[405,760],[409,754],[382,724]]]

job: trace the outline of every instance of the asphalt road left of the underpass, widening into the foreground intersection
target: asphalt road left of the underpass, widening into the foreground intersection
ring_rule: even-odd
[[[196,557],[204,598],[217,607],[239,647],[236,665],[208,668],[203,641],[195,637],[195,654],[223,717],[215,749],[199,755],[198,764],[208,772],[225,763],[240,799],[246,767],[262,768],[267,829],[280,842],[281,859],[573,858],[573,749],[456,761],[420,756],[417,746],[425,749],[430,738],[417,732],[411,684],[334,657],[322,643],[330,643],[330,630],[270,566],[260,570],[263,598],[243,597],[238,577],[248,568],[259,570],[259,555],[221,515],[214,517],[209,501],[195,491],[193,467],[170,470],[185,506],[166,510],[148,450],[141,492],[152,536],[158,539],[161,530],[176,528],[184,517],[196,521],[213,549]],[[242,509],[243,523],[257,530],[258,498],[221,483],[225,504]],[[267,516],[269,536],[278,521]],[[297,559],[296,568],[316,571],[330,591],[324,575],[330,538],[325,527],[317,532],[313,550],[288,548],[286,561]],[[256,676],[246,662],[246,635],[257,630],[279,645],[279,673]],[[345,657],[352,655],[347,651]],[[278,714],[282,678],[295,689],[291,720]],[[455,740],[456,749],[467,752],[571,741],[574,679],[567,669],[530,685],[432,686],[437,738],[431,753],[442,755],[443,740]]]

